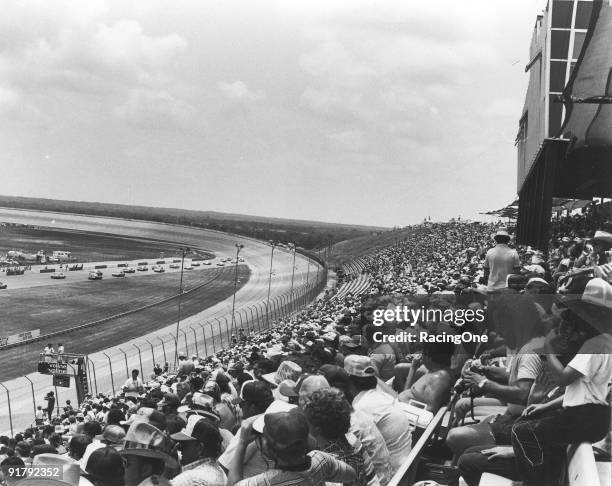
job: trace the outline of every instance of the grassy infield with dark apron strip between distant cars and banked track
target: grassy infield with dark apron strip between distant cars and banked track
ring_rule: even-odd
[[[246,283],[248,272],[246,265],[238,266],[241,281],[238,288]],[[187,293],[181,297],[181,319],[195,315],[233,293],[233,267],[215,267],[185,274],[183,285]],[[129,278],[120,278],[18,289],[13,291],[20,294],[18,298],[2,295],[1,301],[8,299],[11,302],[11,305],[0,308],[2,327],[10,323],[15,328],[23,323],[21,330],[40,328],[41,334],[48,334],[154,304],[127,316],[49,339],[54,346],[63,343],[68,353],[90,354],[176,324],[177,289],[176,274],[145,276],[138,278],[137,284]],[[169,299],[173,296],[175,298]],[[20,313],[24,314],[23,319],[19,319]],[[5,319],[7,314],[9,318]],[[3,332],[3,335],[19,331],[13,329]],[[0,351],[0,381],[31,373],[32,363],[37,362],[43,346],[44,343],[33,343]]]

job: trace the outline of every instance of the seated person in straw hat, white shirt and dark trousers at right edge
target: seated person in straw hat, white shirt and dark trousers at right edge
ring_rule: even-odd
[[[512,428],[512,446],[526,486],[553,483],[562,469],[559,460],[565,446],[597,442],[610,430],[612,286],[594,278],[579,298],[566,296],[562,304],[566,309],[561,313],[561,329],[573,329],[571,334],[586,340],[564,366],[554,354],[554,337],[547,337],[543,359],[565,393],[532,413],[535,420]]]

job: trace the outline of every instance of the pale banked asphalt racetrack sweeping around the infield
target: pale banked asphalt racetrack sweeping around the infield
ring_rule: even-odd
[[[222,257],[235,257],[235,244],[242,244],[244,248],[241,250],[240,256],[245,259],[245,265],[248,266],[250,277],[246,282],[244,282],[245,279],[241,279],[242,286],[236,293],[235,305],[237,311],[244,311],[243,315],[245,316],[248,312],[246,309],[249,309],[252,315],[253,308],[261,309],[262,303],[265,304],[269,284],[270,299],[273,301],[276,297],[289,293],[292,288],[292,281],[297,292],[307,283],[312,284],[319,275],[323,275],[319,265],[299,254],[295,257],[294,265],[294,255],[286,249],[275,248],[273,258],[271,258],[270,245],[261,241],[186,226],[7,208],[0,208],[0,221],[38,227],[107,233],[113,236],[150,239],[152,241],[173,242],[177,246],[189,246],[213,253],[216,257],[215,261]],[[166,256],[168,257],[168,255]],[[231,270],[233,268],[226,267],[225,269],[222,268],[222,270],[232,274]],[[199,271],[191,270],[190,272],[195,273]],[[201,271],[202,275],[204,275],[209,270]],[[54,281],[60,282],[58,283],[58,289],[60,286],[71,285],[69,280],[73,278],[70,275],[72,273],[69,272],[66,281]],[[224,274],[225,272],[222,271],[220,273]],[[152,278],[146,275],[132,278],[132,275],[126,279],[128,284],[133,282],[134,285],[137,285],[142,279]],[[169,277],[170,275],[168,275]],[[220,344],[222,344],[220,333],[224,332],[224,330],[220,329],[221,326],[219,326],[219,330],[217,330],[217,327],[207,328],[206,334],[204,334],[205,339],[203,339],[203,333],[201,332],[194,335],[193,339],[191,336],[193,334],[192,331],[199,329],[198,326],[201,326],[202,323],[231,322],[232,277],[233,275],[228,275],[227,279],[224,280],[227,282],[227,287],[224,290],[216,289],[216,286],[206,289],[205,286],[202,290],[201,298],[193,299],[194,302],[197,302],[197,305],[194,304],[193,307],[192,304],[186,303],[187,299],[184,298],[185,296],[181,298],[181,314],[184,314],[184,308],[186,308],[185,312],[187,312],[184,315],[193,313],[190,317],[181,318],[180,321],[181,351],[184,350],[191,354],[195,351],[194,344],[199,344],[198,352],[200,355],[203,355],[211,352],[215,345],[218,349]],[[13,277],[8,278],[12,279]],[[104,278],[107,278],[106,273]],[[176,274],[174,278],[176,279]],[[47,282],[50,282],[50,280],[47,280]],[[11,280],[8,283],[10,290],[13,288]],[[83,281],[84,286],[88,283],[104,283],[104,280],[102,282]],[[45,283],[45,285],[47,284]],[[10,302],[3,300],[2,306],[4,307],[4,305],[10,305]],[[23,305],[27,305],[27,303]],[[35,303],[33,302],[32,306],[34,305]],[[89,353],[89,360],[92,363],[92,368],[95,365],[96,375],[95,387],[91,383],[90,389],[98,392],[112,392],[113,389],[117,390],[117,387],[120,387],[120,384],[127,378],[126,369],[139,368],[142,365],[144,374],[148,376],[151,373],[154,361],[162,361],[166,355],[168,360],[174,359],[175,344],[171,343],[174,341],[173,335],[176,333],[175,317],[177,316],[177,305],[173,301],[169,305],[170,310],[167,313],[160,312],[154,308],[154,310],[147,314],[143,314],[142,318],[137,319],[135,314],[132,314],[126,317],[120,324],[110,323],[103,335],[94,336],[91,331],[85,332],[84,336],[79,336],[78,339],[75,338],[75,343],[78,343],[74,344],[77,346],[76,349],[70,349],[72,345],[68,344],[67,335],[62,335],[61,340],[55,339],[52,342],[54,344],[63,342],[67,352]],[[168,316],[168,313],[170,316]],[[257,312],[255,313],[257,314]],[[173,314],[175,317],[172,316]],[[164,315],[163,318],[161,317],[162,315]],[[13,319],[11,317],[11,320]],[[9,325],[11,328],[15,327],[14,322],[7,324],[7,327]],[[189,340],[187,347],[182,345],[183,336],[185,341]],[[122,342],[122,344],[112,345],[111,343],[116,342],[115,339]],[[199,343],[197,341],[194,343],[195,339]],[[223,345],[227,344],[227,337],[225,339]],[[35,343],[29,346],[32,349],[26,349],[25,347],[16,349],[33,357],[40,352],[43,346],[44,343]],[[138,352],[140,350],[141,353]],[[9,399],[12,427],[16,433],[24,430],[32,423],[35,405],[44,405],[42,397],[47,391],[54,390],[51,376],[35,372],[36,366],[37,360],[30,358],[29,360],[22,361],[17,351],[0,351],[0,370],[4,372],[4,369],[14,369],[20,375],[29,373],[27,378],[23,376],[3,383],[8,390],[8,394],[4,389],[0,390],[0,433],[10,432]],[[63,406],[66,399],[72,400],[73,403],[76,402],[74,381],[71,383],[70,388],[58,387],[56,391],[60,407]]]

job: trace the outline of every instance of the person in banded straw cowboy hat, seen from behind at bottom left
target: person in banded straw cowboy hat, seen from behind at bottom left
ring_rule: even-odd
[[[126,459],[125,486],[169,486],[170,482],[161,475],[166,467],[178,466],[171,452],[172,442],[161,430],[147,422],[134,422],[119,451]]]

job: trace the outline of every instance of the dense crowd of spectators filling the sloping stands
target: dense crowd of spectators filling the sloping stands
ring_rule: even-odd
[[[4,481],[16,479],[7,466],[62,464],[57,484],[385,485],[449,406],[432,455],[467,484],[485,471],[557,484],[564,447],[610,431],[612,235],[559,234],[548,252],[513,247],[510,233],[413,227],[366,258],[364,294],[241,330],[230,348],[180,355],[171,371],[134,370],[121,394],[0,437]],[[397,306],[486,318],[374,325]],[[420,331],[488,341],[392,339]]]

